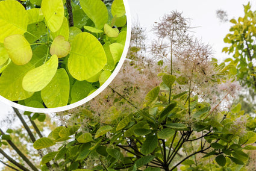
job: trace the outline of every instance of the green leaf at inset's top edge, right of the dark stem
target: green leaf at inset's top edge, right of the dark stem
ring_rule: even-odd
[[[108,10],[101,0],[80,0],[84,13],[95,23],[96,28],[101,30],[108,21]]]

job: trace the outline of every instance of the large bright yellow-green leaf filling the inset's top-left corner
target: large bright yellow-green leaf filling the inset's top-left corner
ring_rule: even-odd
[[[17,1],[0,2],[0,43],[4,43],[7,36],[24,34],[28,26],[28,13]]]

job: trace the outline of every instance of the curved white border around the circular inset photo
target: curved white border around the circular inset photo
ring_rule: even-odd
[[[75,102],[73,104],[69,104],[63,107],[56,107],[56,108],[34,108],[34,107],[27,107],[25,105],[17,104],[16,102],[12,102],[3,96],[0,95],[0,101],[4,102],[4,104],[10,105],[11,107],[17,108],[22,111],[30,111],[35,113],[57,113],[60,111],[70,110],[72,108],[78,107],[80,105],[85,104],[86,102],[90,101],[91,99],[95,98],[99,93],[101,93],[113,79],[116,77],[117,73],[121,69],[123,62],[125,61],[129,46],[130,46],[130,40],[131,40],[131,13],[130,13],[130,7],[128,4],[128,0],[123,0],[123,4],[125,5],[125,11],[126,11],[126,22],[127,22],[127,31],[126,31],[126,40],[125,40],[125,46],[123,48],[122,56],[119,60],[119,63],[117,64],[116,68],[114,69],[113,73],[110,75],[110,77],[107,79],[107,81],[102,84],[99,89],[97,89],[95,92],[93,92],[91,95],[87,96],[86,98]]]

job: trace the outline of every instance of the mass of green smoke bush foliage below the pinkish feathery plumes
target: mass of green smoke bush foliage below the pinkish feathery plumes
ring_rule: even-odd
[[[217,112],[207,102],[199,101],[197,95],[175,93],[174,85],[187,87],[189,83],[168,73],[160,75],[163,82],[145,96],[143,107],[135,112],[119,114],[104,124],[96,122],[89,110],[82,110],[70,118],[75,118],[76,125],[59,126],[48,138],[39,138],[34,143],[36,149],[62,142],[57,151],[42,159],[42,167],[51,160],[52,167],[66,170],[176,170],[180,164],[181,170],[244,167],[248,161],[246,151],[256,149],[251,145],[256,141],[251,131],[255,119],[246,116],[240,104]],[[212,79],[220,81],[216,76]],[[243,132],[239,125],[242,116],[248,117]],[[199,146],[187,151],[187,157],[177,156],[192,143]],[[203,157],[196,160],[200,153]]]

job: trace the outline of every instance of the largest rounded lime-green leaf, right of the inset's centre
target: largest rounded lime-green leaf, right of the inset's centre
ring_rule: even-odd
[[[100,72],[107,63],[101,43],[89,33],[78,34],[72,42],[67,67],[73,78],[83,81]]]

